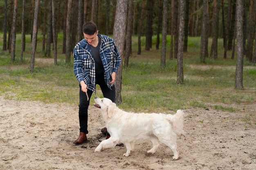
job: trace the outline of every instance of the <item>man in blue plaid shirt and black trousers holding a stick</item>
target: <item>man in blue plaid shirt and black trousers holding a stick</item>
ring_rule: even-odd
[[[112,38],[98,34],[97,25],[83,25],[84,39],[74,47],[74,74],[79,82],[79,125],[80,133],[75,145],[87,140],[88,106],[96,84],[101,87],[105,98],[115,102],[115,78],[121,57]]]

